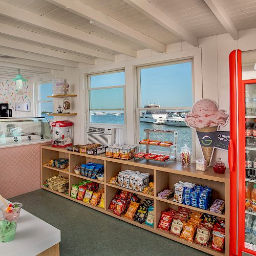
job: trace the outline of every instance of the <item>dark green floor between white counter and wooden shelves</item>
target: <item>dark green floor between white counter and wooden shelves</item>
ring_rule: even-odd
[[[9,199],[61,231],[60,255],[208,255],[44,189]]]

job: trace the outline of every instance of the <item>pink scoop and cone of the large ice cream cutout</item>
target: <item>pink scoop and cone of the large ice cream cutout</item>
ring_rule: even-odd
[[[219,110],[214,100],[201,99],[193,105],[192,111],[186,114],[185,122],[197,132],[209,134],[218,131],[220,125],[224,126],[227,123],[229,115],[225,112],[225,110]],[[209,166],[214,146],[201,145],[201,148],[207,166]]]

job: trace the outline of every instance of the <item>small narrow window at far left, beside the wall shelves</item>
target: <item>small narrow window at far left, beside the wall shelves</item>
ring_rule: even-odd
[[[52,83],[37,83],[35,93],[37,116],[53,119],[53,116],[48,115],[53,113],[53,100],[52,98],[47,98],[47,96],[52,95]]]

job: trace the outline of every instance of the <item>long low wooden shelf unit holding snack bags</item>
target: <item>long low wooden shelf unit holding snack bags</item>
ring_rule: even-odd
[[[49,166],[45,166],[45,163],[56,158],[65,157],[69,158],[69,172],[61,172],[56,167],[48,168]],[[94,180],[91,178],[83,177],[74,173],[74,167],[76,165],[88,162],[95,162],[104,164],[104,181]],[[140,162],[134,162],[134,160],[122,160],[122,159],[114,159],[108,158],[105,154],[101,154],[98,156],[87,155],[84,153],[75,153],[67,151],[65,148],[56,148],[52,146],[41,146],[41,185],[49,178],[57,174],[61,174],[66,178],[69,178],[69,194],[70,188],[72,184],[77,184],[78,182],[88,179],[99,183],[100,188],[105,189],[105,207],[101,208],[98,206],[93,206],[88,203],[84,203],[83,201],[79,201],[77,199],[71,198],[66,193],[58,193],[54,190],[51,190],[47,187],[41,186],[43,189],[51,191],[59,196],[68,198],[74,202],[80,203],[82,205],[88,206],[95,210],[101,211],[104,214],[115,217],[119,220],[125,221],[127,223],[136,225],[148,231],[159,234],[160,236],[166,237],[168,239],[177,241],[179,243],[185,244],[187,246],[196,248],[198,250],[204,251],[211,255],[229,255],[229,170],[226,170],[225,174],[216,174],[212,167],[209,167],[206,172],[200,172],[196,170],[195,164],[191,165],[191,168],[182,168],[179,162],[170,162],[166,164],[166,167],[163,166],[163,163],[159,162],[148,162],[147,160],[142,160]],[[138,170],[139,172],[149,173],[150,181],[154,182],[154,196],[148,196],[142,192],[134,191],[131,189],[126,189],[119,187],[114,184],[110,184],[109,180],[111,177],[117,175],[121,170],[124,169],[132,169]],[[217,198],[225,200],[225,213],[215,214],[214,212],[210,212],[209,210],[203,210],[200,208],[196,208],[193,206],[183,205],[177,202],[173,202],[173,199],[160,199],[157,197],[157,194],[162,191],[164,188],[172,188],[174,184],[178,181],[188,181],[194,182],[196,184],[207,185],[213,189],[212,193],[212,201]],[[115,196],[118,190],[127,190],[134,192],[138,198],[143,201],[145,199],[153,199],[154,200],[154,227],[147,226],[145,224],[140,224],[134,220],[129,220],[121,216],[115,215],[112,211],[110,211],[109,205]],[[207,214],[211,214],[217,216],[218,219],[225,220],[225,253],[220,253],[216,250],[210,248],[210,246],[201,246],[195,243],[189,243],[185,240],[182,240],[178,237],[172,236],[168,232],[165,232],[159,228],[157,228],[161,211],[166,208],[174,208],[178,209],[178,206],[183,206],[189,209],[194,209],[201,212],[206,212]],[[170,248],[171,249],[171,248]],[[167,253],[167,252],[166,252]]]

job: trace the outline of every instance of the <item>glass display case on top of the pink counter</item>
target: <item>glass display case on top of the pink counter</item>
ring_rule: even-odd
[[[51,126],[45,117],[0,118],[0,148],[51,141]]]

